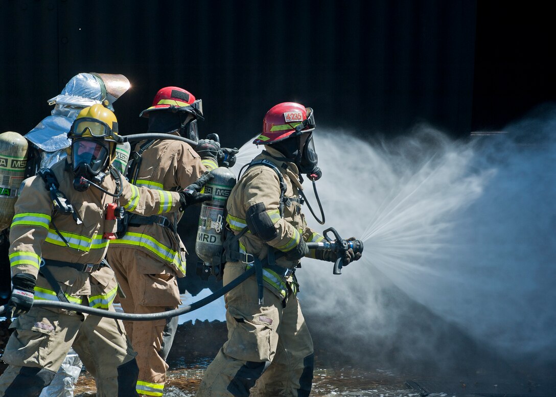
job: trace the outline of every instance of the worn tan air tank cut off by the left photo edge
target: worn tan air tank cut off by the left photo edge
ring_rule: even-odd
[[[25,178],[27,140],[17,132],[0,134],[0,230],[12,223],[19,187]]]

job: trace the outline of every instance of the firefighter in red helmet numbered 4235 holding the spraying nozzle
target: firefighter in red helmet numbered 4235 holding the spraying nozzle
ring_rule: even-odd
[[[307,227],[299,193],[301,174],[322,176],[314,129],[311,108],[294,102],[272,107],[254,141],[265,150],[230,193],[226,222],[241,237],[239,252],[227,254],[232,260],[225,264],[223,282],[251,266],[260,266],[264,281],[253,275],[226,294],[228,340],[207,368],[198,397],[248,396],[257,379],[260,395],[309,396],[313,344],[296,297],[295,271],[304,256],[336,260],[332,252],[310,252],[306,245],[324,239]],[[347,265],[361,254],[350,249],[342,255]]]

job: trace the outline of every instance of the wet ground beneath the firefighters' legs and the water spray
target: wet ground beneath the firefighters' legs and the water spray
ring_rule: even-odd
[[[191,363],[170,363],[164,397],[193,397],[211,358]],[[422,386],[422,388],[419,388]],[[424,388],[424,389],[423,389]],[[553,397],[556,383],[516,379],[511,376],[474,374],[440,378],[438,375],[409,373],[386,368],[361,369],[341,363],[317,362],[312,384],[312,397]],[[80,376],[75,397],[94,397],[95,381],[86,372]],[[260,397],[257,385],[252,397]]]

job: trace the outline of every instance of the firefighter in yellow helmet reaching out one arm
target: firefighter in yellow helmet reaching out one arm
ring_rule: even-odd
[[[0,396],[36,397],[73,346],[95,377],[97,396],[135,396],[137,364],[121,321],[32,307],[34,299],[114,311],[117,282],[103,260],[116,231],[113,207],[151,215],[210,199],[206,176],[183,192],[135,187],[112,166],[117,120],[102,105],[84,108],[68,133],[66,161],[27,178],[10,229],[12,295],[17,316],[2,359]],[[78,306],[76,306],[78,307]]]

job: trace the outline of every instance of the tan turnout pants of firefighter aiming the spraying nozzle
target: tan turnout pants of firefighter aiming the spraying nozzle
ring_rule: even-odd
[[[245,271],[227,262],[224,284]],[[313,376],[313,344],[297,297],[284,299],[265,287],[257,301],[255,276],[225,297],[228,340],[207,368],[197,397],[249,396],[259,379],[261,396],[307,397]]]

